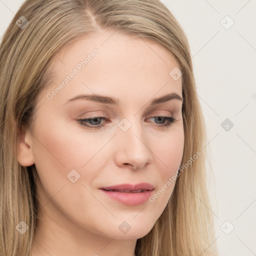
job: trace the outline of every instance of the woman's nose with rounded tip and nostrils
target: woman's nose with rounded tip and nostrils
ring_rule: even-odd
[[[139,125],[132,123],[128,130],[117,132],[115,162],[120,167],[138,170],[152,162],[148,139]]]

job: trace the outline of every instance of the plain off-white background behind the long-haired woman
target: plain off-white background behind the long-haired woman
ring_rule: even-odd
[[[0,0],[1,37],[22,2]],[[162,2],[188,37],[206,120],[214,172],[209,179],[216,232],[212,242],[221,256],[256,255],[256,1]],[[234,124],[228,131],[221,127],[226,118]]]

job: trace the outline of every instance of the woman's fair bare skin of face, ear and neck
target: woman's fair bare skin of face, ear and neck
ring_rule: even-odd
[[[148,182],[156,192],[176,173],[184,144],[182,101],[148,105],[152,98],[172,92],[182,97],[181,78],[169,75],[178,66],[174,57],[155,42],[111,34],[104,30],[83,36],[57,52],[50,63],[54,82],[39,94],[33,131],[27,129],[20,137],[19,163],[34,163],[37,170],[39,215],[31,255],[135,255],[136,239],[151,230],[172,193],[175,182],[154,202],[129,206],[99,189]],[[48,99],[94,48],[98,54]],[[116,97],[120,105],[84,99],[66,103],[82,93]],[[107,120],[87,124],[103,127],[88,129],[76,121],[92,114],[104,114]],[[164,128],[162,120],[151,118],[155,115],[176,121]],[[117,125],[123,118],[131,123],[125,132]],[[76,182],[67,178],[72,169],[80,174]],[[131,227],[126,233],[118,228],[123,221]]]

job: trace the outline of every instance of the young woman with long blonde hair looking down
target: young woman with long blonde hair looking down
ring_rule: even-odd
[[[26,0],[0,59],[2,255],[216,255],[189,46],[159,0]]]

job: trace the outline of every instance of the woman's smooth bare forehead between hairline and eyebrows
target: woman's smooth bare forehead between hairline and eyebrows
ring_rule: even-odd
[[[124,96],[151,98],[158,92],[157,96],[182,94],[181,78],[169,75],[174,67],[178,67],[176,60],[162,45],[136,35],[103,31],[84,35],[55,54],[49,67],[54,82],[47,92],[62,83],[55,101],[77,92],[119,94],[124,100]],[[71,73],[75,75],[67,78]]]

